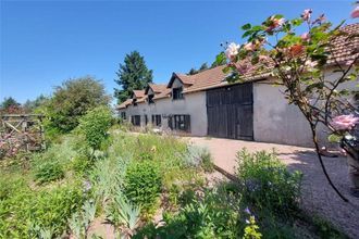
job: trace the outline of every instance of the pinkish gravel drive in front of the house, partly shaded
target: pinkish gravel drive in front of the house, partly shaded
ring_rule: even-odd
[[[290,171],[298,169],[304,173],[302,207],[327,218],[351,238],[359,238],[359,199],[349,194],[346,158],[323,160],[333,183],[349,199],[349,203],[338,198],[330,187],[312,149],[218,138],[191,137],[189,141],[207,147],[213,155],[215,165],[228,173],[234,173],[235,155],[239,149],[247,148],[249,152],[275,149],[278,158]]]

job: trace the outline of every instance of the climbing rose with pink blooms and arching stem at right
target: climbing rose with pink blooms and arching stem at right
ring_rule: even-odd
[[[351,16],[358,17],[356,8]],[[312,17],[307,9],[299,17],[285,20],[272,15],[260,25],[246,24],[245,43],[230,43],[218,56],[218,63],[226,62],[227,81],[244,81],[248,75],[274,76],[276,85],[284,86],[284,97],[295,104],[308,121],[317,154],[330,185],[347,201],[331,181],[322,162],[318,142],[319,125],[331,133],[332,140],[351,133],[359,122],[348,81],[358,83],[359,49],[355,45],[358,33],[343,30],[344,21],[333,25],[324,14]],[[306,29],[305,32],[301,32]],[[334,52],[335,43],[346,43],[349,58],[345,61]],[[326,76],[331,74],[333,79]],[[332,78],[331,77],[331,78]],[[359,85],[357,85],[359,86]]]

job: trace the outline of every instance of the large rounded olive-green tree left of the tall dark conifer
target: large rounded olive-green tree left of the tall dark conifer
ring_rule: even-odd
[[[100,105],[108,105],[110,97],[104,86],[94,77],[69,79],[55,87],[53,97],[46,103],[48,128],[69,133],[78,125],[81,116]]]

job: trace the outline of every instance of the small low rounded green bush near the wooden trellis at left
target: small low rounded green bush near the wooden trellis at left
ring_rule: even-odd
[[[61,179],[65,176],[62,166],[59,162],[46,162],[40,165],[35,172],[35,179],[39,184],[45,184],[53,180]]]

